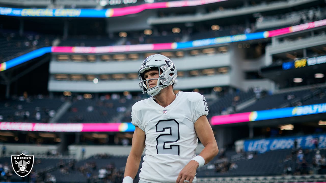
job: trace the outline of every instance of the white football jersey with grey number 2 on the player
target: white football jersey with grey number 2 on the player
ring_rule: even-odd
[[[132,124],[146,136],[140,179],[151,183],[175,183],[180,171],[196,156],[194,123],[207,114],[206,99],[196,92],[179,91],[167,107],[157,104],[153,97],[133,105]]]

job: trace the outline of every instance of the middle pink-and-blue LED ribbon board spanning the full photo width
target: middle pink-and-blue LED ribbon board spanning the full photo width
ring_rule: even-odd
[[[0,10],[1,12],[1,10]],[[104,46],[104,47],[45,47],[34,50],[25,55],[19,56],[4,63],[0,63],[0,72],[7,70],[20,63],[27,62],[33,58],[37,58],[45,53],[119,53],[126,51],[153,51],[153,50],[171,50],[171,49],[185,49],[195,48],[199,46],[218,45],[223,43],[231,43],[238,41],[247,41],[254,39],[262,39],[273,37],[277,35],[285,35],[292,32],[311,29],[326,25],[326,19],[320,21],[309,22],[301,25],[277,29],[273,31],[265,31],[258,33],[231,35],[224,37],[216,37],[209,39],[200,39],[188,42],[174,42],[174,43],[156,43],[156,44],[140,44],[140,45],[121,45],[121,46]],[[319,59],[319,62],[321,62]],[[325,59],[324,59],[325,60]],[[323,61],[323,60],[322,60]],[[324,61],[323,61],[324,62]],[[309,65],[309,60],[308,60]],[[313,63],[313,62],[312,62]],[[316,61],[317,63],[317,61]],[[291,67],[291,66],[289,66]]]

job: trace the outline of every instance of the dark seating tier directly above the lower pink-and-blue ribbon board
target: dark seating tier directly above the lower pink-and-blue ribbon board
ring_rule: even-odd
[[[211,117],[235,112],[250,112],[325,103],[325,95],[325,87],[315,90],[303,89],[300,91],[289,91],[273,95],[265,93],[261,94],[259,99],[256,98],[257,95],[254,90],[249,90],[248,92],[236,90],[227,92],[216,100],[208,100],[207,102],[210,107],[209,117]],[[130,122],[131,106],[139,101],[139,99],[127,99],[124,96],[121,98],[120,95],[117,96],[119,96],[119,99],[83,99],[82,97],[75,99],[68,111],[61,116],[58,122]],[[20,99],[0,102],[2,121],[48,122],[51,119],[49,115],[53,117],[64,102],[63,99],[58,98],[35,98],[23,101],[20,101]],[[237,105],[250,99],[256,99],[256,102],[240,111],[236,111]],[[51,107],[48,106],[49,104],[51,104]],[[36,115],[40,115],[40,118],[36,117]]]

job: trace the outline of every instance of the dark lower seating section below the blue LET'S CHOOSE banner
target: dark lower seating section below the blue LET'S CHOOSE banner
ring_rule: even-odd
[[[324,171],[315,164],[316,150],[305,150],[306,163],[298,160],[299,150],[284,149],[274,150],[263,154],[247,152],[243,158],[234,159],[235,155],[218,156],[211,163],[205,165],[197,172],[198,177],[221,176],[276,176],[276,175],[308,175],[309,172],[320,174]],[[320,149],[320,154],[325,156],[326,150]],[[214,163],[214,166],[212,166]],[[288,167],[290,169],[288,170]],[[288,171],[287,171],[288,170]]]

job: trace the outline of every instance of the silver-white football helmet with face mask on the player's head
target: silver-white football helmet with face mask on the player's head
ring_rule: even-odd
[[[145,79],[144,72],[150,69],[158,70],[158,81],[155,87],[147,88],[146,82],[152,79]],[[174,63],[168,57],[160,54],[147,57],[138,70],[138,76],[141,80],[139,83],[141,91],[143,94],[147,93],[151,96],[156,95],[169,85],[175,86],[178,82],[177,68],[174,66]]]

